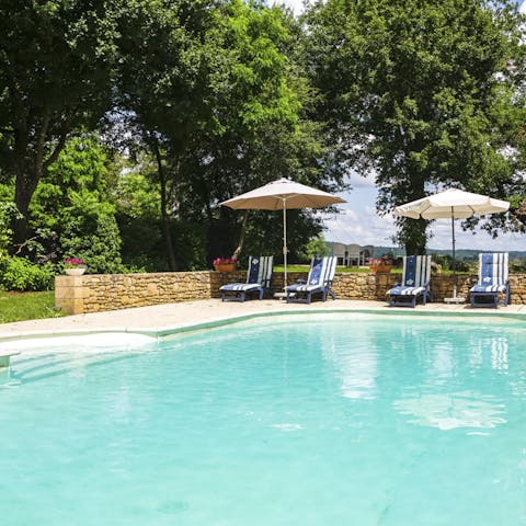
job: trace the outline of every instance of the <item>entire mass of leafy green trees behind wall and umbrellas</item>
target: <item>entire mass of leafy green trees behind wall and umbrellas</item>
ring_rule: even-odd
[[[512,203],[489,231],[524,229],[523,23],[506,0],[318,0],[301,19],[4,0],[0,256],[117,272],[203,268],[242,242],[279,253],[278,215],[219,203],[282,176],[339,191],[351,170],[375,174],[380,214],[459,186]],[[288,218],[300,258],[322,225]],[[425,250],[426,221],[398,227]]]

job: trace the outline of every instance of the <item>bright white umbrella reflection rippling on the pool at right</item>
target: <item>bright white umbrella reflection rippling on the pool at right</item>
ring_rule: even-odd
[[[449,395],[423,395],[420,398],[395,400],[392,407],[404,415],[412,416],[412,424],[437,427],[443,431],[457,427],[495,427],[504,424],[505,405],[492,397],[479,392]]]

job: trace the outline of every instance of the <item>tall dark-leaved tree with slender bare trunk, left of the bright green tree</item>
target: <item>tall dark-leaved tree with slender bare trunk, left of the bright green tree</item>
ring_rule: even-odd
[[[171,270],[180,266],[170,228],[176,208],[180,157],[192,134],[216,121],[210,102],[217,59],[210,31],[217,23],[216,3],[134,0],[121,21],[117,102],[126,126],[134,132],[132,146],[146,148],[156,162],[160,219]]]

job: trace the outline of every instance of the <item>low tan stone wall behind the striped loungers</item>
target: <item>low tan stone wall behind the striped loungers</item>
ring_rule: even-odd
[[[236,272],[163,272],[153,274],[100,274],[56,276],[55,305],[67,315],[144,307],[147,305],[219,298],[219,287],[226,283],[244,282],[245,271]],[[288,283],[306,278],[307,273],[288,273]],[[400,274],[340,273],[332,289],[342,299],[385,300]],[[476,275],[457,276],[457,295],[468,298]],[[434,301],[451,296],[453,277],[432,277]],[[284,275],[274,275],[274,290],[283,289]],[[526,275],[510,276],[512,304],[526,304]]]

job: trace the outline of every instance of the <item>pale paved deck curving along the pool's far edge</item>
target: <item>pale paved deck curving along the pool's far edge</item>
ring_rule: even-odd
[[[250,300],[244,302],[220,299],[206,299],[139,307],[125,310],[112,310],[89,315],[46,318],[43,320],[19,321],[0,324],[0,342],[37,335],[93,333],[93,332],[168,332],[194,325],[216,323],[227,319],[251,315],[265,315],[298,311],[356,311],[378,313],[449,313],[457,316],[510,316],[526,320],[526,305],[507,307],[476,308],[469,305],[427,304],[415,309],[389,307],[385,301],[355,301],[328,299],[310,305],[286,304],[277,299]]]

